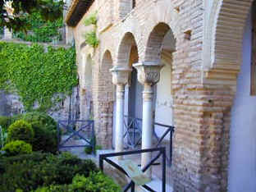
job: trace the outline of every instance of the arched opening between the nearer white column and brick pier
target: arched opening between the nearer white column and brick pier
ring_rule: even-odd
[[[164,64],[160,71],[160,80],[155,85],[155,93],[153,98],[153,121],[165,126],[173,126],[173,93],[171,91],[171,67],[172,53],[176,52],[176,39],[169,25],[159,23],[156,25],[149,35],[144,61],[155,63],[156,65]],[[154,125],[154,133],[159,139],[167,130],[165,126]],[[167,148],[168,160],[171,160],[171,139],[168,134],[162,141],[162,146]],[[159,171],[153,170],[155,176],[159,175]],[[167,167],[167,184],[171,185],[171,168]]]

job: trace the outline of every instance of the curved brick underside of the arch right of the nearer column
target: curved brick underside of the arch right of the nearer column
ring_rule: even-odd
[[[161,61],[163,39],[169,30],[171,30],[169,25],[165,23],[159,23],[153,28],[146,44],[144,62],[158,63]]]

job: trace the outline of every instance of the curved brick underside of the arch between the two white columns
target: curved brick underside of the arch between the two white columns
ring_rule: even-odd
[[[117,48],[117,65],[130,66],[130,50],[132,47],[137,47],[135,36],[127,32],[124,34]]]

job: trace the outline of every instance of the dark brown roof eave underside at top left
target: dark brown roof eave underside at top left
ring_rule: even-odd
[[[94,0],[73,0],[66,14],[66,24],[75,27],[93,2]]]

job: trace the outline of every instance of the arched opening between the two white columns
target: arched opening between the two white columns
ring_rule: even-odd
[[[125,147],[128,148],[133,143],[139,140],[141,134],[135,133],[135,137],[132,135],[132,130],[136,129],[134,124],[131,122],[135,118],[142,118],[142,91],[143,86],[139,84],[137,79],[137,71],[133,64],[139,61],[139,54],[135,37],[130,32],[126,33],[121,40],[121,44],[118,49],[117,63],[121,66],[132,68],[128,84],[125,87]],[[130,126],[127,126],[130,125]],[[141,123],[139,125],[141,129]],[[138,146],[139,147],[139,146]]]

